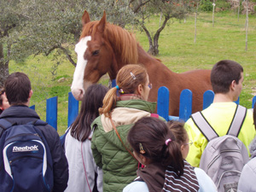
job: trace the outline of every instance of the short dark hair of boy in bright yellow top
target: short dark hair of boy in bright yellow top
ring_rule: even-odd
[[[236,61],[223,60],[218,61],[212,67],[211,82],[214,93],[227,93],[230,90],[230,84],[233,80],[236,84],[241,79],[243,68]]]

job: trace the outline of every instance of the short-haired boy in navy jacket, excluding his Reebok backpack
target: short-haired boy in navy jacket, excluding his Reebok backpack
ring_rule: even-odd
[[[25,73],[10,74],[4,82],[4,90],[10,107],[3,111],[0,119],[6,119],[13,125],[24,125],[40,119],[33,109],[28,108],[32,97],[32,87]],[[60,137],[50,125],[38,125],[37,128],[44,135],[52,158],[54,173],[52,191],[64,191],[67,188],[68,164],[64,150],[61,147]],[[0,129],[0,132],[3,132],[3,129]],[[1,135],[2,133],[0,133]]]

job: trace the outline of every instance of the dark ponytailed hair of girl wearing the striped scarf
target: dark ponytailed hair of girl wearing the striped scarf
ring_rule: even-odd
[[[172,141],[166,145],[167,139]],[[180,145],[175,141],[172,131],[164,121],[154,117],[139,119],[131,127],[127,140],[137,154],[142,154],[140,153],[140,145],[142,145],[145,151],[142,155],[151,160],[151,163],[172,166],[177,176],[183,175],[184,162]]]

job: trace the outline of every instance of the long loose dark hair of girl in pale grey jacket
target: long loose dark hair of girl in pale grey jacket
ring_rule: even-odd
[[[71,136],[84,142],[91,132],[90,124],[97,116],[98,109],[102,107],[102,101],[108,88],[102,84],[92,84],[86,90],[78,117],[71,128]]]

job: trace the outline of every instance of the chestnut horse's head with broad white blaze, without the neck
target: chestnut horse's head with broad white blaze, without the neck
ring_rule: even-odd
[[[78,61],[71,86],[73,96],[77,100],[82,100],[85,90],[95,84],[102,75],[109,73],[113,64],[113,49],[104,37],[107,25],[105,12],[102,20],[90,21],[89,14],[84,11],[82,24],[83,31],[79,43],[75,46]]]

